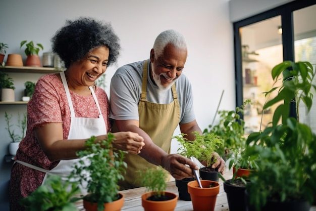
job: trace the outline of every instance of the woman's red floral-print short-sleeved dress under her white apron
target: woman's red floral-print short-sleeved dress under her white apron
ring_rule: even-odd
[[[99,87],[96,87],[95,95],[107,125],[107,129],[104,128],[104,134],[106,134],[110,131],[109,99],[106,92]],[[76,117],[98,118],[99,112],[92,95],[81,96],[70,90],[70,96]],[[64,139],[66,140],[70,129],[70,120],[70,109],[63,83],[56,74],[42,76],[37,81],[33,98],[27,105],[27,132],[19,145],[15,159],[47,170],[54,168],[59,161],[51,162],[48,160],[39,146],[34,128],[46,123],[62,122]],[[21,196],[28,196],[30,192],[41,185],[43,178],[44,173],[15,163],[11,171],[10,198],[18,200]]]

